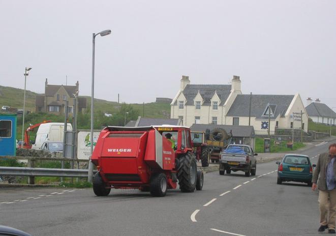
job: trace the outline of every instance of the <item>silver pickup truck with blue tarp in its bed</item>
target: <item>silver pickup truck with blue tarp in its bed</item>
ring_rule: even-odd
[[[254,153],[249,145],[230,144],[227,149],[221,153],[219,173],[230,174],[231,170],[244,171],[245,176],[256,175],[257,170],[257,153]]]

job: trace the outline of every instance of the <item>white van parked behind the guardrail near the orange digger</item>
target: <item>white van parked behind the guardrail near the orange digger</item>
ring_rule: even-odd
[[[72,125],[68,123],[67,131],[72,131]],[[41,124],[35,138],[32,149],[41,149],[46,141],[63,142],[64,123],[45,123]]]

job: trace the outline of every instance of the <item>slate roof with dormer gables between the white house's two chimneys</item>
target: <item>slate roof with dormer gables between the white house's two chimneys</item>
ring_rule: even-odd
[[[194,105],[194,98],[198,94],[198,91],[202,98],[204,99],[203,105],[210,106],[210,99],[217,93],[218,97],[221,99],[221,104],[223,105],[226,102],[226,99],[229,97],[231,92],[231,85],[229,84],[188,84],[183,90],[183,94],[187,99],[187,105]],[[175,101],[174,105],[177,104]]]

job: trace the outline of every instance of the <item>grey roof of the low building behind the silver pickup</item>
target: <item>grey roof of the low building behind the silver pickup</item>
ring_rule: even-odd
[[[204,132],[206,129],[213,130],[215,128],[224,129],[228,133],[230,133],[230,131],[232,131],[232,136],[233,137],[255,137],[255,132],[254,132],[253,126],[193,124],[190,127],[191,131],[198,131],[198,132]]]

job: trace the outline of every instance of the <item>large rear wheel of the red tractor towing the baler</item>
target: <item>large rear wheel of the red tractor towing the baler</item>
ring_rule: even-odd
[[[186,153],[179,157],[177,178],[182,192],[194,192],[197,181],[197,163],[192,153]]]

